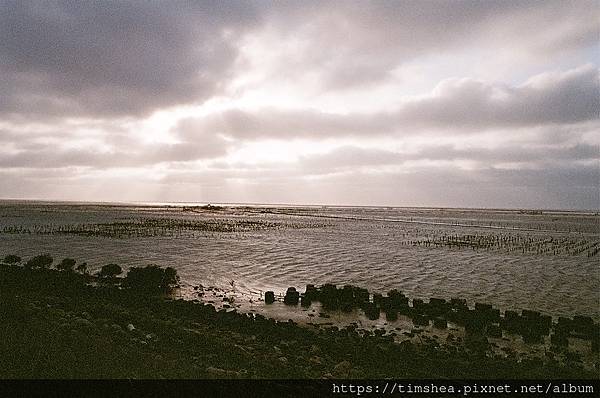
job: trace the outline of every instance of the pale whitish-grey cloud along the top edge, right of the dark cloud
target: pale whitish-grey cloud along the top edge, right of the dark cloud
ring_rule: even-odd
[[[596,45],[598,20],[589,12],[596,7],[585,0],[287,4],[272,10],[268,26],[310,45],[273,73],[290,79],[314,75],[324,88],[343,90],[385,81],[396,67],[420,56],[507,43],[547,63]]]

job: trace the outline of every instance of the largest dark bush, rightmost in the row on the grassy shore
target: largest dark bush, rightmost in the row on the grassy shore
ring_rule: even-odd
[[[146,292],[168,292],[177,285],[178,280],[179,277],[174,268],[148,265],[144,268],[130,268],[123,281],[123,286]]]

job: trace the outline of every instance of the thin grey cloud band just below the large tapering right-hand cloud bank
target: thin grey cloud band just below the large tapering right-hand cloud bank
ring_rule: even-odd
[[[343,146],[324,154],[306,155],[298,162],[278,164],[276,167],[265,164],[246,164],[243,162],[227,163],[211,161],[202,172],[190,171],[188,168],[173,171],[175,180],[191,182],[198,174],[220,178],[237,178],[246,180],[262,180],[274,178],[302,178],[306,176],[324,176],[353,173],[358,170],[371,170],[375,173],[386,170],[384,166],[404,166],[406,162],[415,160],[456,161],[469,160],[478,162],[477,170],[497,169],[497,165],[507,163],[521,164],[514,173],[535,169],[554,169],[571,167],[578,162],[600,161],[600,147],[591,144],[574,144],[570,146],[538,145],[522,147],[504,145],[500,148],[457,149],[450,145],[430,145],[416,152],[399,153],[378,148],[361,148]],[[430,169],[430,166],[419,167]]]

